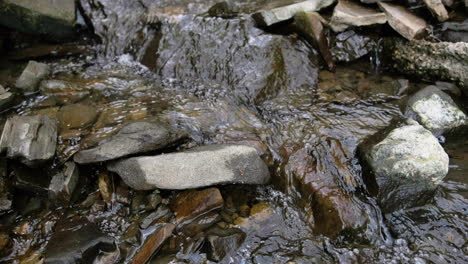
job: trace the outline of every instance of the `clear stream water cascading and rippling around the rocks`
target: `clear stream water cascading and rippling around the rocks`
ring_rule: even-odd
[[[227,19],[205,16],[210,1],[82,1],[100,37],[96,55],[45,60],[54,79],[66,81],[69,89],[21,98],[2,119],[39,113],[57,118],[60,107],[77,102],[96,108],[94,125],[59,131],[51,169],[133,120],[157,118],[186,131],[191,140],[181,149],[254,145],[274,179],[263,187],[220,187],[224,221],[246,234],[225,263],[468,262],[466,137],[446,139],[450,172],[432,202],[387,215],[368,193],[356,154],[358,145],[400,117],[407,96],[426,84],[376,73],[367,58],[339,65],[336,73],[320,70],[318,53],[297,36],[265,32],[244,15],[266,2],[238,1],[240,15]],[[379,60],[375,54],[371,60]],[[3,62],[0,75],[13,82],[21,66]],[[115,238],[118,263],[128,261],[139,247],[136,223],[149,211],[135,213],[125,195],[111,205],[86,205],[101,170],[84,169],[87,177],[70,208],[23,195],[15,213],[2,216],[1,228],[26,223],[30,231],[14,236],[0,261],[35,263],[50,239],[48,226],[78,216]],[[15,197],[23,191],[17,192]],[[240,217],[245,204],[262,210]],[[204,261],[195,236],[173,238],[151,263]]]

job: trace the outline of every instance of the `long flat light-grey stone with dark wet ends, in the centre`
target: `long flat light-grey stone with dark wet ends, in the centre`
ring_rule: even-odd
[[[136,190],[183,190],[218,184],[265,184],[268,167],[253,147],[208,145],[184,152],[136,157],[110,163]]]

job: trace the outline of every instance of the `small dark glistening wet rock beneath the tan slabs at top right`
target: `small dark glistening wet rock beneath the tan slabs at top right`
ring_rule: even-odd
[[[374,38],[348,30],[332,38],[330,52],[336,61],[350,62],[366,56],[376,47]]]

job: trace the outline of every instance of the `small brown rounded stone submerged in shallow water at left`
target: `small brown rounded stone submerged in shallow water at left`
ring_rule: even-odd
[[[71,104],[60,109],[57,114],[62,129],[86,128],[94,124],[98,110],[91,105]]]

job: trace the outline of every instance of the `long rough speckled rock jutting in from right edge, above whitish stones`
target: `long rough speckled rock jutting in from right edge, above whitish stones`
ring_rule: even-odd
[[[384,54],[393,70],[426,81],[449,81],[468,88],[468,43],[386,39]]]

